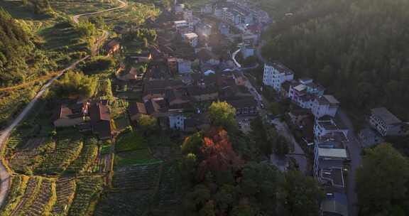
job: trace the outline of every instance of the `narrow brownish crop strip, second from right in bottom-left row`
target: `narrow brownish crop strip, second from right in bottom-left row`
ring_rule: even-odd
[[[75,195],[75,179],[58,178],[56,182],[57,201],[53,206],[53,215],[67,215]]]

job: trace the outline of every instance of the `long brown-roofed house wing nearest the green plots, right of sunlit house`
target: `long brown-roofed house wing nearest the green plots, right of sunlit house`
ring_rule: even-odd
[[[111,114],[107,105],[103,102],[95,102],[89,108],[89,117],[91,118],[92,133],[99,139],[111,139]]]

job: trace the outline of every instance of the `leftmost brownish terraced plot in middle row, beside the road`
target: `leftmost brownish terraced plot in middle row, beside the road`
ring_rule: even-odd
[[[51,139],[44,137],[29,139],[10,159],[10,166],[16,172],[31,173],[54,149],[55,143]]]

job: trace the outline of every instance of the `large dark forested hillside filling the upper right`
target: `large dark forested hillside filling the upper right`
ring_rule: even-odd
[[[386,106],[409,119],[409,1],[311,0],[288,19],[297,22],[273,26],[263,55],[319,80],[349,109]]]

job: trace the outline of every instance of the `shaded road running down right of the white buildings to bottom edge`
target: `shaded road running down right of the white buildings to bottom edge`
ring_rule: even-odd
[[[361,151],[362,147],[359,143],[359,140],[356,138],[354,126],[351,123],[351,120],[341,109],[337,113],[339,119],[343,121],[345,126],[348,127],[348,139],[347,149],[349,157],[351,158],[349,173],[348,173],[348,184],[347,184],[347,196],[349,202],[349,215],[356,216],[358,215],[358,206],[357,206],[357,197],[356,197],[356,168],[361,166]]]

